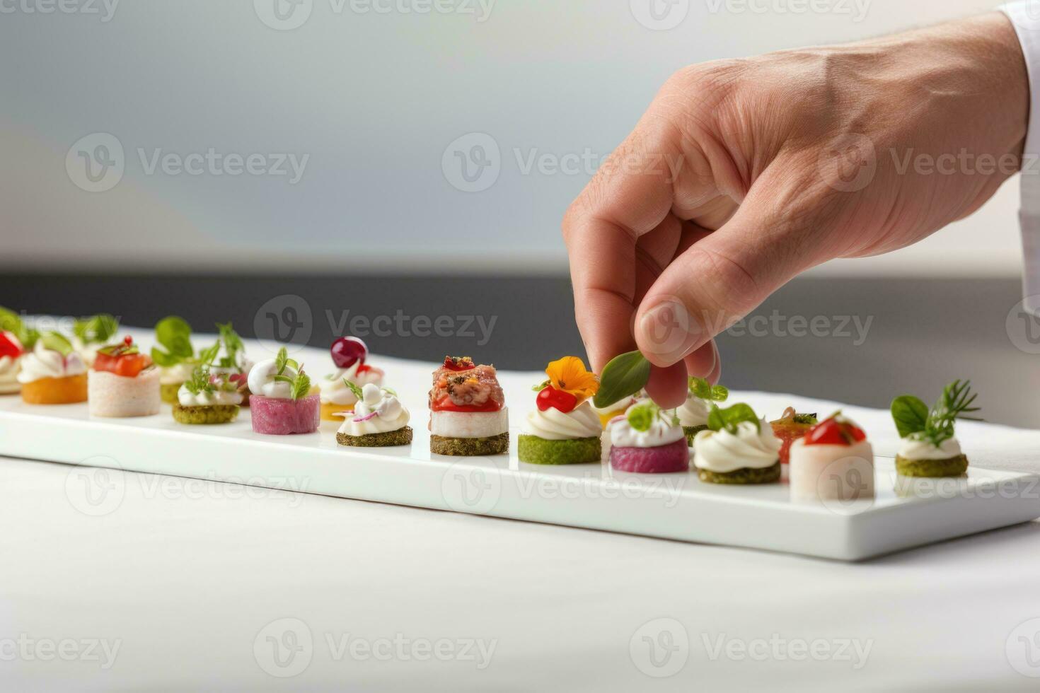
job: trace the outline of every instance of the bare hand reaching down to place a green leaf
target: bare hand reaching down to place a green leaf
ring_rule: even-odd
[[[638,346],[650,395],[680,404],[687,373],[719,377],[712,338],[795,275],[979,209],[1028,117],[996,12],[679,71],[564,219],[593,369]]]

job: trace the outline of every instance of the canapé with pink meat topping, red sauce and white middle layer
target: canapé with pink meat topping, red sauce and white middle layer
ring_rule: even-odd
[[[510,448],[509,410],[494,366],[445,356],[430,391],[430,451],[472,457]]]

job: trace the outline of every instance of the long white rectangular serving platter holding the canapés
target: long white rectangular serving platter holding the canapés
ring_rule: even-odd
[[[2,397],[0,455],[844,561],[1040,517],[1033,475],[972,469],[965,479],[918,480],[898,492],[893,461],[879,458],[873,500],[794,503],[786,481],[714,486],[694,473],[524,464],[516,458],[516,420],[510,456],[432,455],[426,412],[412,412],[410,447],[354,449],[336,444],[331,422],[308,435],[256,434],[246,408],[234,424],[183,426],[168,405],[155,417],[108,420],[92,419],[86,404]]]

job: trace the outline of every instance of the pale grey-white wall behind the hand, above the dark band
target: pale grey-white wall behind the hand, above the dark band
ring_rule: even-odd
[[[690,62],[994,4],[829,0],[833,11],[794,14],[688,0],[678,26],[651,30],[629,0],[497,0],[487,17],[492,0],[298,1],[288,21],[309,11],[307,21],[279,30],[261,19],[285,26],[276,0],[2,0],[0,267],[562,270],[560,218],[590,171],[525,175],[518,155],[605,155]],[[472,132],[494,138],[501,168],[468,193],[442,172],[442,157]],[[125,152],[123,177],[105,192],[77,186],[118,177],[114,167],[98,183],[84,178],[77,153],[102,140],[73,144],[93,133]],[[209,148],[261,154],[264,165],[280,153],[309,160],[296,184],[150,172],[140,161],[139,152]],[[823,271],[935,273],[941,256],[943,270],[1017,273],[1016,207],[1013,182],[914,248]],[[467,259],[452,260],[460,252]]]

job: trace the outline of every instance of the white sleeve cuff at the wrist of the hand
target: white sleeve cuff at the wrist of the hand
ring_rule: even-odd
[[[1024,272],[1022,291],[1025,308],[1040,315],[1040,0],[1005,2],[1000,11],[1008,16],[1025,57],[1030,78],[1030,122],[1023,152],[1022,206],[1019,221],[1022,230]]]

